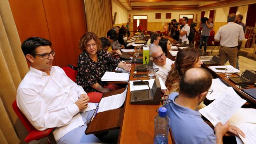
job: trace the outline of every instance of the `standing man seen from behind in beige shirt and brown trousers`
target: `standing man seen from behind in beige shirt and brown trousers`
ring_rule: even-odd
[[[244,30],[239,24],[235,24],[236,15],[228,15],[228,24],[221,26],[215,35],[215,41],[220,41],[220,65],[228,59],[231,66],[237,67],[238,41],[244,40]]]

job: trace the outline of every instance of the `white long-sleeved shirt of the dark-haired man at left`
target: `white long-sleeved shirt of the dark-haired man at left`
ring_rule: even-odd
[[[17,105],[37,130],[59,127],[53,131],[59,140],[74,128],[84,125],[75,102],[86,94],[68,78],[62,68],[52,66],[50,76],[30,66],[19,84]]]

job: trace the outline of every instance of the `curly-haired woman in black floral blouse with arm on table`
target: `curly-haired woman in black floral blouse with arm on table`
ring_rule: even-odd
[[[117,85],[101,81],[106,71],[113,71],[116,66],[130,70],[131,65],[122,63],[119,59],[101,50],[101,42],[93,32],[85,33],[79,42],[79,48],[83,51],[78,57],[78,75],[76,83],[81,85],[88,94],[90,102],[99,102],[103,92],[118,89]]]

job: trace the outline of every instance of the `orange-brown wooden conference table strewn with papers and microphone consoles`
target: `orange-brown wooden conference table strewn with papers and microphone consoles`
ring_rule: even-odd
[[[171,40],[170,40],[171,41]],[[175,42],[172,40],[171,42]],[[129,53],[128,53],[129,54]],[[130,53],[133,54],[133,53]],[[166,57],[175,60],[175,57],[171,54],[166,54]],[[140,58],[140,57],[139,57]],[[134,73],[135,65],[132,64],[132,69],[130,73]],[[235,87],[235,84],[230,80],[225,78],[224,73],[215,73],[208,66],[202,65],[211,72],[213,78],[220,78],[220,80],[228,86],[234,88],[235,92],[247,100],[244,104],[244,108],[256,108],[256,99],[250,97],[248,94],[242,92],[240,89]],[[147,72],[137,72],[137,74],[147,73]],[[237,74],[232,74],[232,76],[237,76]],[[141,78],[142,80],[148,80],[148,78]],[[137,80],[133,76],[129,77],[129,80]],[[117,82],[120,84],[120,82]],[[249,85],[251,88],[253,85]],[[111,111],[104,111],[102,113],[97,113],[92,122],[88,125],[86,129],[86,134],[105,132],[109,130],[115,130],[120,128],[118,143],[120,144],[152,144],[154,141],[154,118],[158,114],[156,109],[158,109],[162,103],[159,102],[157,105],[145,105],[145,104],[131,104],[130,103],[130,87],[127,85],[128,90],[126,94],[126,100],[119,109],[114,109]],[[103,97],[108,97],[114,94],[122,93],[125,88],[120,90],[111,91],[104,93]],[[211,103],[211,101],[206,100],[206,104]],[[174,139],[171,134],[171,130],[168,135],[168,144],[173,144]]]

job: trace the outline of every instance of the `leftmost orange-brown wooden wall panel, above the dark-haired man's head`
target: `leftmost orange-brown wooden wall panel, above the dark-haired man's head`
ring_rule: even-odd
[[[31,36],[51,40],[42,0],[9,0],[9,4],[21,43]]]

